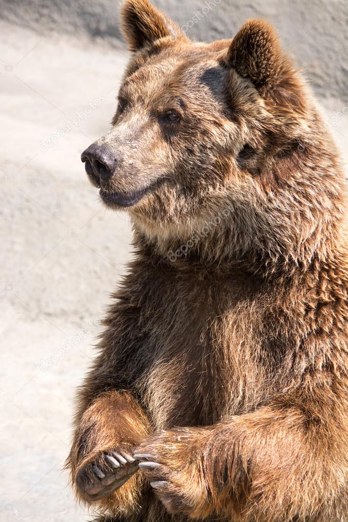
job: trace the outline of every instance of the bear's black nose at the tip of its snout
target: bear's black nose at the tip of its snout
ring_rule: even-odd
[[[96,143],[92,143],[82,152],[81,161],[86,163],[87,174],[100,182],[108,180],[115,172],[117,165],[114,151],[110,147]]]

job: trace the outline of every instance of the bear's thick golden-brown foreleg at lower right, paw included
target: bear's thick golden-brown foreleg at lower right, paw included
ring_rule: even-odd
[[[333,522],[346,488],[344,418],[335,400],[283,397],[207,428],[154,433],[134,456],[170,513]]]

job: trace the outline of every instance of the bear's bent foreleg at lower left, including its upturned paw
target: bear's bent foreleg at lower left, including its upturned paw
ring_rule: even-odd
[[[143,481],[133,448],[148,433],[130,393],[113,390],[95,398],[82,414],[66,464],[79,500],[113,515],[131,513]]]

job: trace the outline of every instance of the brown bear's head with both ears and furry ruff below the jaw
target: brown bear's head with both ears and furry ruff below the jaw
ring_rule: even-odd
[[[105,205],[174,250],[312,255],[341,213],[341,181],[272,27],[249,20],[232,40],[190,41],[147,0],[125,1],[122,27],[133,55],[112,128],[82,153]],[[215,254],[199,239],[207,225]]]

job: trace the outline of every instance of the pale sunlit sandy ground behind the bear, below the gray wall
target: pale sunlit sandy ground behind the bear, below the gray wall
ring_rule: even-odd
[[[78,522],[74,388],[131,255],[127,215],[102,209],[79,156],[109,128],[127,54],[7,22],[0,50],[0,520]],[[347,102],[322,103],[347,161]]]

